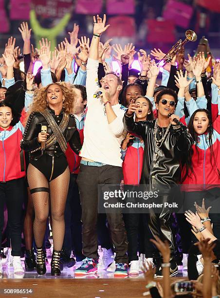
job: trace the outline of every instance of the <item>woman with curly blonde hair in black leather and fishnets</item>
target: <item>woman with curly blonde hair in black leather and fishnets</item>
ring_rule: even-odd
[[[50,84],[34,96],[21,147],[30,152],[27,170],[34,209],[34,236],[37,245],[37,273],[46,273],[43,239],[51,202],[54,251],[51,274],[60,275],[59,261],[64,238],[64,210],[70,180],[65,150],[67,142],[79,153],[81,142],[75,119],[70,112],[74,104],[74,90],[65,83]],[[41,132],[42,126],[47,132]],[[43,149],[44,148],[44,149]]]

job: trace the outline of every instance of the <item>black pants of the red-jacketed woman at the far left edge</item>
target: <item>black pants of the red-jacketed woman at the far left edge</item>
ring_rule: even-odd
[[[4,203],[6,203],[12,256],[20,256],[21,254],[21,216],[23,201],[24,178],[0,183],[0,243],[4,225]]]

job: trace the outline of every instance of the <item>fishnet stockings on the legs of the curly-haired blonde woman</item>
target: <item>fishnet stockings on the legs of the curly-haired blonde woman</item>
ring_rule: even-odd
[[[65,232],[64,211],[70,182],[70,170],[66,168],[61,175],[48,183],[46,177],[37,168],[29,164],[27,177],[30,189],[37,187],[50,188],[54,249],[61,250]],[[35,209],[33,227],[35,242],[37,247],[41,247],[49,214],[49,193],[45,191],[35,192],[32,194],[32,199]]]

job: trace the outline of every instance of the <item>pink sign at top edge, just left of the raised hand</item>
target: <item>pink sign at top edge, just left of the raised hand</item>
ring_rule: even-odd
[[[97,15],[102,11],[102,0],[76,0],[75,13]]]

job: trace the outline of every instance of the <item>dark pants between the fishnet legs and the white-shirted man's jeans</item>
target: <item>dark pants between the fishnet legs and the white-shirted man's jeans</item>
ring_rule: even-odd
[[[70,257],[72,250],[76,261],[82,261],[82,222],[79,189],[76,183],[77,174],[70,174],[70,185],[65,208],[65,235],[63,249]]]

